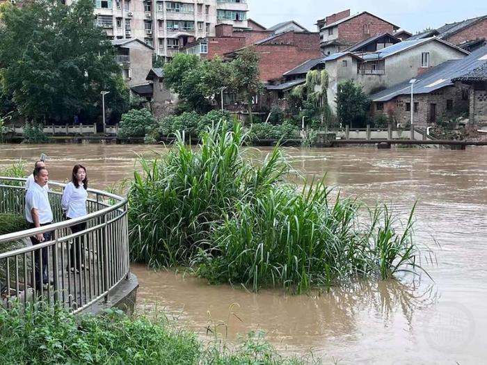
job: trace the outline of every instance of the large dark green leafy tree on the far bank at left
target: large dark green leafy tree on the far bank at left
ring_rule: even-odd
[[[0,82],[19,114],[43,122],[101,113],[101,90],[112,111],[127,108],[111,43],[93,22],[93,1],[72,6],[39,0],[0,10]]]

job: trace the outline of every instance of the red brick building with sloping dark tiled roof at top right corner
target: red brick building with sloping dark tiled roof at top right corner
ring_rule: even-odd
[[[467,49],[468,51],[473,51],[474,49],[482,47],[487,39],[487,15],[466,19],[461,22],[445,24],[438,29],[429,29],[420,34],[413,35],[410,40],[433,36],[441,38],[442,40],[447,40],[452,44],[456,44],[458,47],[465,47],[464,49]],[[476,48],[472,47],[472,42]]]

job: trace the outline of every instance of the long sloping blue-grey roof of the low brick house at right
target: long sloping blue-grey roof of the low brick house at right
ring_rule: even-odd
[[[445,86],[454,85],[454,79],[477,69],[487,61],[487,47],[477,49],[461,60],[448,60],[430,70],[416,76],[414,94],[428,94]],[[388,102],[399,95],[408,95],[411,86],[409,81],[398,83],[390,88],[376,92],[370,98],[373,102]]]

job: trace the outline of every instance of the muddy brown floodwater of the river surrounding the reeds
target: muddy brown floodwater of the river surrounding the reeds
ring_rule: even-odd
[[[74,163],[88,169],[95,188],[131,178],[144,145],[0,145],[0,168],[17,159],[32,165],[47,154],[49,178],[70,177]],[[262,156],[269,149],[260,149]],[[321,295],[279,290],[249,293],[209,286],[180,273],[132,269],[141,287],[140,308],[163,308],[183,327],[206,336],[218,326],[234,341],[251,330],[287,354],[312,350],[326,364],[487,363],[487,148],[286,149],[305,177],[324,177],[343,195],[388,203],[406,219],[417,201],[415,238],[436,261],[426,275],[401,282],[357,282]],[[435,240],[437,243],[435,243]]]

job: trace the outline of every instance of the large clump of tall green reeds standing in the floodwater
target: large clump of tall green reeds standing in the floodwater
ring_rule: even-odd
[[[387,207],[329,195],[323,182],[288,184],[279,147],[256,164],[248,134],[217,126],[191,148],[177,134],[161,159],[141,159],[129,190],[131,258],[189,266],[213,283],[308,291],[353,277],[414,271],[413,211],[399,225]],[[368,209],[369,219],[359,210]]]

